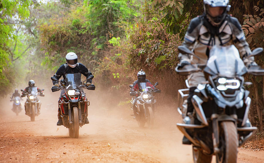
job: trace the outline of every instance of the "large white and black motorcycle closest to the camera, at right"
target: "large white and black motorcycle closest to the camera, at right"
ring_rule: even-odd
[[[180,53],[194,55],[185,46],[179,46]],[[248,57],[259,55],[263,48],[256,48]],[[194,56],[197,57],[197,56]],[[243,85],[242,75],[264,75],[258,66],[246,68],[235,46],[214,46],[210,50],[206,65],[187,65],[175,70],[180,75],[203,71],[207,82],[194,90],[191,99],[194,111],[187,114],[187,89],[178,90],[178,112],[184,123],[177,123],[179,130],[192,143],[194,162],[233,163],[237,161],[237,148],[245,143],[257,130],[248,120],[251,98]]]

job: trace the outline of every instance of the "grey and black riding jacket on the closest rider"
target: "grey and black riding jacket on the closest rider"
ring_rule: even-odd
[[[186,46],[200,58],[179,53],[180,63],[187,61],[192,64],[206,64],[209,51],[214,45],[229,46],[232,42],[239,51],[241,58],[251,54],[246,37],[238,19],[227,15],[219,26],[212,26],[205,15],[192,19],[185,34],[183,46]],[[254,61],[254,57],[243,60],[246,65]]]

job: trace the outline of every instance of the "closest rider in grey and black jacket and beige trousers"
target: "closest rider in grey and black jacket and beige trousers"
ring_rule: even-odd
[[[248,68],[257,66],[254,57],[246,58],[251,54],[251,50],[238,19],[227,14],[231,7],[229,0],[204,0],[203,3],[204,13],[190,21],[182,43],[183,46],[193,50],[199,58],[179,53],[179,67],[187,68],[191,64],[206,64],[212,46],[229,46],[231,41],[234,42]],[[191,102],[194,90],[199,83],[205,81],[203,72],[194,72],[188,75],[190,88],[187,98],[187,115],[191,115],[194,109]],[[183,144],[190,144],[190,141],[184,137]]]

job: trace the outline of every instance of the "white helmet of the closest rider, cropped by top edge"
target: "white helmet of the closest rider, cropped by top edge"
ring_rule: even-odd
[[[229,0],[204,0],[204,13],[213,26],[218,26],[230,10]]]

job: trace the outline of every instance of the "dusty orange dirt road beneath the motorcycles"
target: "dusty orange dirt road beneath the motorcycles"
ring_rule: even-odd
[[[56,126],[56,102],[42,101],[35,122],[24,110],[15,116],[11,102],[1,104],[6,109],[0,115],[0,162],[192,162],[191,146],[181,144],[176,112],[156,114],[150,130],[139,128],[127,108],[118,113],[91,102],[90,124],[72,139],[65,127]],[[264,152],[239,149],[238,162],[264,162]]]

